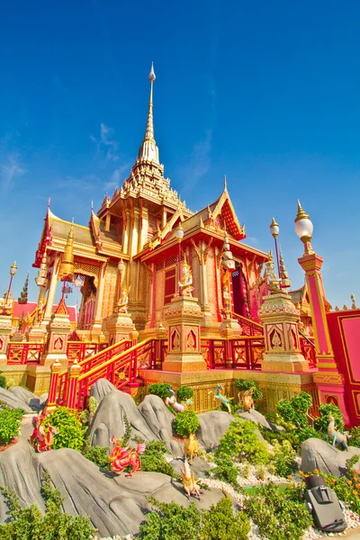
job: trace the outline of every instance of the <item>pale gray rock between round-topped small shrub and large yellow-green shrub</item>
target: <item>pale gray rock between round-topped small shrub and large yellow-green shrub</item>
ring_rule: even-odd
[[[224,437],[234,417],[228,412],[211,410],[198,415],[200,428],[197,432],[199,445],[207,451],[219,446],[219,440]]]

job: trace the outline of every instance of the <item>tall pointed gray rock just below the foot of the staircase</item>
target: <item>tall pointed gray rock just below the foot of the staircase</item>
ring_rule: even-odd
[[[148,428],[131,396],[115,388],[103,397],[95,412],[89,431],[91,445],[110,446],[112,436],[123,437],[125,414],[130,421],[132,437],[138,436],[146,441],[158,438]]]

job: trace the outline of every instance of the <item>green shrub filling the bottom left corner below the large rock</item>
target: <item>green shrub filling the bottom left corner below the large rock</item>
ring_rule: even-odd
[[[41,489],[46,503],[44,516],[35,504],[22,509],[17,495],[4,486],[0,490],[10,510],[10,521],[0,525],[0,538],[4,540],[89,540],[95,533],[89,518],[63,514],[61,493],[51,487],[48,473]]]

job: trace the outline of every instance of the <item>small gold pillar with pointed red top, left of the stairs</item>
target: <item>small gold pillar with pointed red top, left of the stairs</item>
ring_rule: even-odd
[[[48,342],[41,357],[41,365],[51,365],[54,360],[57,360],[61,365],[67,365],[67,339],[70,330],[71,324],[67,306],[62,298],[47,326]]]

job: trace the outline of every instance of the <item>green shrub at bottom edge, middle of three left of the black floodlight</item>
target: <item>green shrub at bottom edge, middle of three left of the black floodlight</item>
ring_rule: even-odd
[[[202,512],[202,535],[206,540],[247,540],[250,523],[244,512],[234,516],[231,501],[225,497]]]

